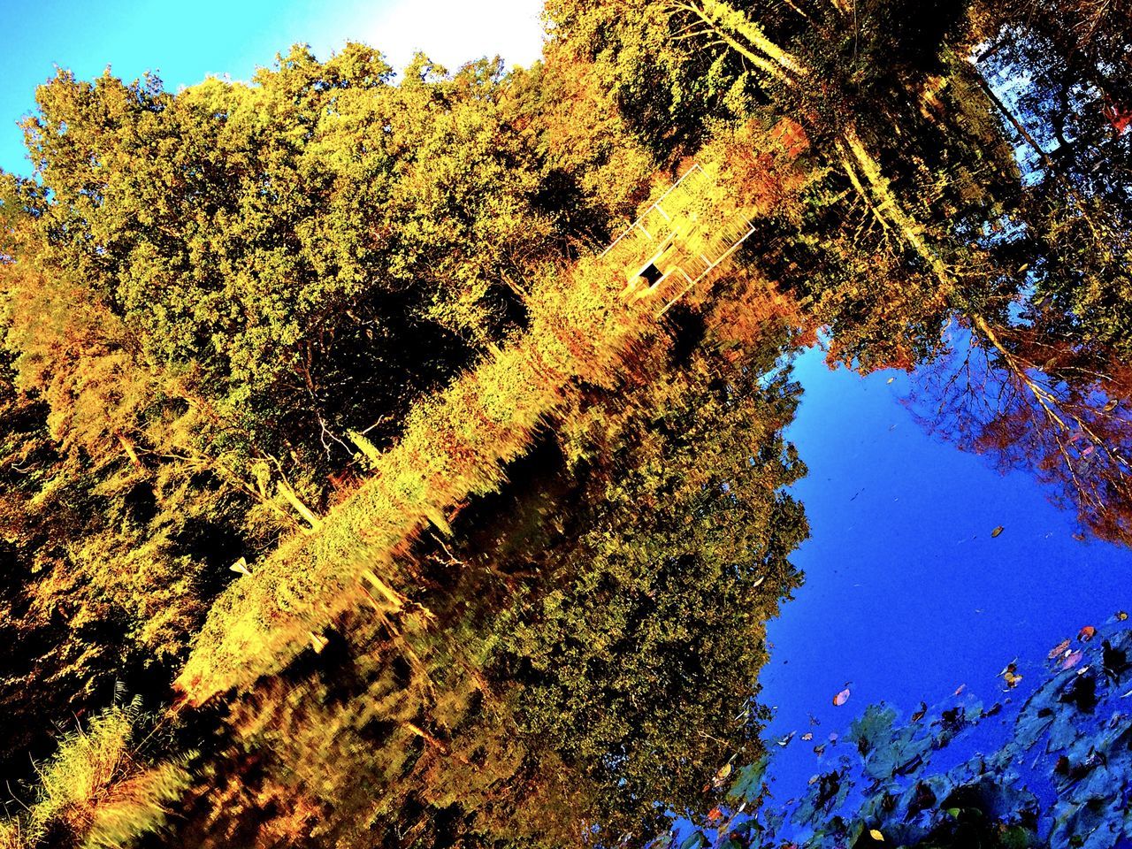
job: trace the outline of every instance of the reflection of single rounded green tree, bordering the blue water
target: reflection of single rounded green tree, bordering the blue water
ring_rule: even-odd
[[[786,558],[807,528],[780,491],[804,473],[779,434],[796,387],[710,362],[641,391],[632,414],[594,412],[606,447],[588,460],[583,530],[548,551],[555,589],[503,626],[522,727],[598,781],[614,834],[654,821],[657,800],[691,808],[754,751],[763,623],[800,583]]]

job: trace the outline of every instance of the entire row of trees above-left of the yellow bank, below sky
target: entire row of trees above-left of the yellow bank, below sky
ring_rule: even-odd
[[[41,88],[37,179],[3,204],[6,645],[49,714],[168,675],[228,566],[351,490],[349,434],[389,445],[632,209],[577,187],[594,145],[537,152],[549,128],[497,66],[391,77],[352,45],[251,86]]]

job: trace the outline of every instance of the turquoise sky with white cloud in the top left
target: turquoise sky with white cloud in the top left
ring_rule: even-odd
[[[542,45],[540,7],[539,0],[2,0],[9,37],[0,52],[0,169],[29,173],[16,122],[57,65],[86,79],[108,65],[127,80],[154,70],[171,91],[208,75],[248,79],[297,42],[325,58],[348,40],[362,41],[398,68],[418,49],[451,68],[497,53],[529,65]]]

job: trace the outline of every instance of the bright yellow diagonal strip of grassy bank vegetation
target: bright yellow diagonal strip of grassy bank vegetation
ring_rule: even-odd
[[[775,168],[773,161],[767,168]],[[494,491],[503,466],[526,452],[538,429],[559,417],[583,385],[611,387],[635,345],[655,332],[658,309],[687,291],[687,274],[668,275],[659,298],[623,298],[626,273],[635,275],[658,243],[674,243],[680,261],[706,286],[729,246],[721,232],[746,230],[746,216],[720,190],[720,168],[707,162],[663,211],[645,214],[669,228],[627,231],[615,247],[548,274],[530,294],[530,328],[505,349],[491,349],[473,371],[458,377],[409,414],[401,441],[374,462],[374,477],[327,514],[309,539],[291,539],[251,576],[232,584],[214,604],[177,686],[194,703],[281,668],[334,616],[362,599],[361,573],[387,583],[404,581],[403,550],[431,521],[469,495]],[[737,228],[736,221],[743,226]],[[655,288],[655,286],[652,286]],[[661,310],[662,311],[662,310]],[[440,522],[437,522],[437,518]]]

